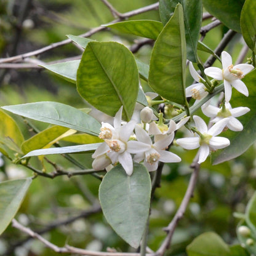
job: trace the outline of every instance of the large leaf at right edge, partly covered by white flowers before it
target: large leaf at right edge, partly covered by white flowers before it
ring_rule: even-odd
[[[223,133],[224,137],[230,140],[230,146],[218,150],[212,154],[212,163],[219,164],[233,158],[237,158],[243,154],[256,140],[256,116],[255,116],[255,97],[256,97],[256,70],[246,75],[242,81],[246,84],[249,90],[249,97],[245,97],[237,90],[232,91],[231,106],[232,108],[238,106],[247,106],[250,108],[249,113],[246,113],[241,118],[244,129],[241,132],[233,132],[231,130]]]

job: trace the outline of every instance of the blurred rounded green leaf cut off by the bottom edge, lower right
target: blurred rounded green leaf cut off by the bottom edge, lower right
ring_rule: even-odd
[[[213,232],[203,233],[186,247],[188,256],[230,256],[230,248]]]

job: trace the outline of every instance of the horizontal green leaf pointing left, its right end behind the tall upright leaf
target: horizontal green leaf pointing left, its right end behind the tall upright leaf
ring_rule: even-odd
[[[135,36],[142,36],[143,38],[154,40],[158,38],[163,27],[162,23],[156,20],[128,20],[107,26],[123,33],[135,34]]]

